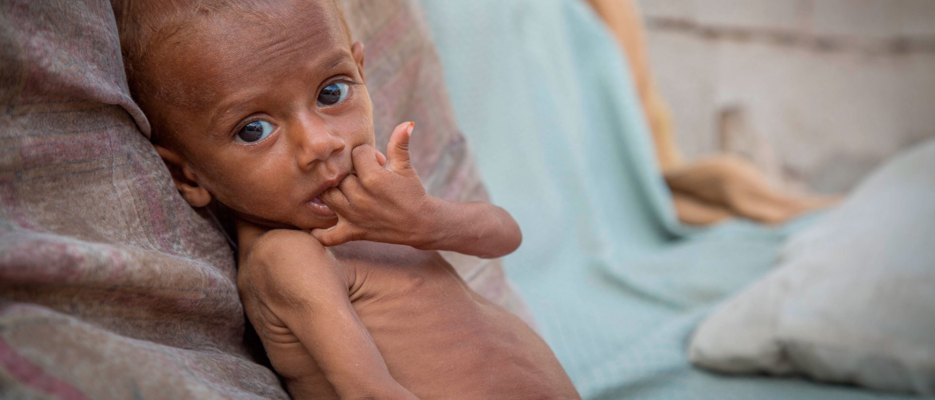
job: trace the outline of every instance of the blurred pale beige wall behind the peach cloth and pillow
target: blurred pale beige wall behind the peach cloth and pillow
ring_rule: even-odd
[[[639,0],[685,159],[842,193],[935,136],[933,0]]]

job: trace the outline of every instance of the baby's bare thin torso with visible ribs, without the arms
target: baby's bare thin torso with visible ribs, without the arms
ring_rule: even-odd
[[[437,252],[353,242],[333,254],[352,276],[352,307],[390,374],[419,398],[577,398],[545,342],[471,290]],[[295,369],[281,374],[306,380],[295,386],[328,387],[300,345],[266,350],[274,365],[287,357]]]

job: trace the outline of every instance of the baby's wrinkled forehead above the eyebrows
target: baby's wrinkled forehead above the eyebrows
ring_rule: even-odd
[[[336,49],[350,54],[350,38],[331,0],[293,0],[194,15],[156,48],[162,60],[154,62],[153,83],[173,102],[200,108],[243,79],[268,76],[261,70]]]

